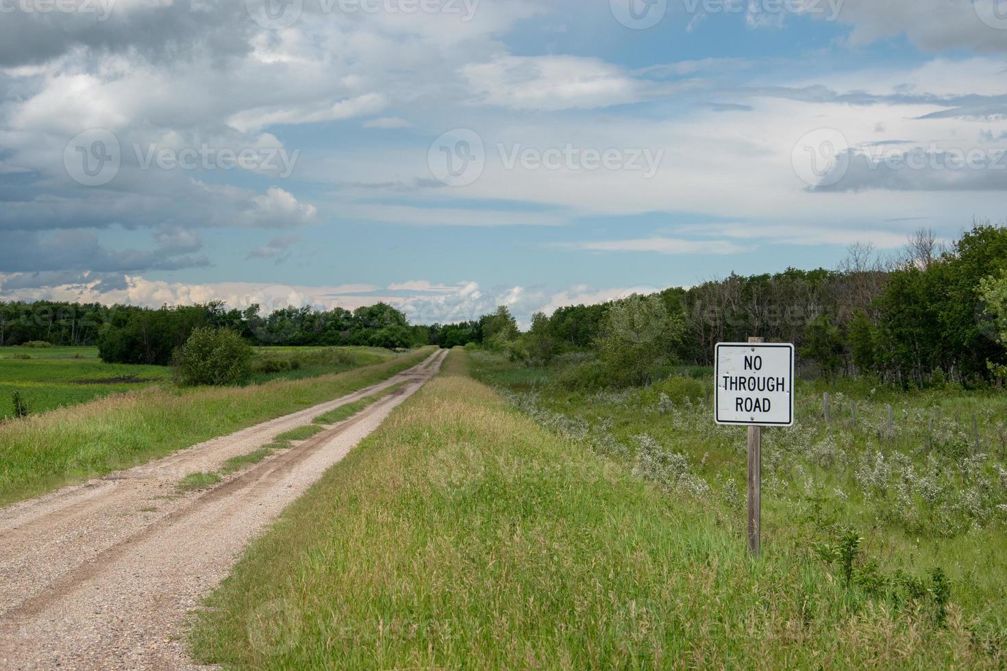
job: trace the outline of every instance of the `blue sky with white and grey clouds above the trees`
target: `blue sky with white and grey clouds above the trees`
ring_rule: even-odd
[[[999,222],[1007,0],[0,0],[0,300],[414,323]]]

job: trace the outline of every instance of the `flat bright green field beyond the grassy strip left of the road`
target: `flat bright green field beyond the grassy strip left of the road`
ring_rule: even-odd
[[[378,347],[257,347],[248,383],[305,379],[387,361]],[[30,358],[25,358],[30,357]],[[274,365],[268,365],[273,362]],[[13,415],[20,393],[31,412],[83,403],[114,393],[170,382],[165,366],[103,363],[97,347],[0,348],[0,420]]]

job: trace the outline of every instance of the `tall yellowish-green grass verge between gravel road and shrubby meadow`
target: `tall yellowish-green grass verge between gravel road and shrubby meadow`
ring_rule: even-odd
[[[997,668],[954,600],[901,608],[442,373],[255,540],[196,614],[228,668]],[[939,620],[938,614],[941,615]]]

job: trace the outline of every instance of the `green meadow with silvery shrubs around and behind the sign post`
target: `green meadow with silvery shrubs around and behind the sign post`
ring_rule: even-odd
[[[474,358],[480,379],[499,385],[543,426],[591,446],[670,496],[730,513],[740,533],[745,430],[714,426],[708,373],[687,373],[698,382],[675,378],[650,388],[585,393],[554,383],[562,372],[557,366],[533,369],[540,381],[519,386],[520,366],[483,353]],[[690,397],[681,393],[694,387],[698,393]],[[825,391],[830,423],[823,416]],[[898,610],[907,591],[932,590],[930,572],[940,570],[975,635],[1004,645],[1007,405],[1001,392],[951,386],[905,392],[866,379],[801,380],[796,413],[793,429],[763,431],[763,548],[804,548],[831,575],[842,575],[836,553],[853,534],[862,541],[850,548],[849,575],[860,596]]]

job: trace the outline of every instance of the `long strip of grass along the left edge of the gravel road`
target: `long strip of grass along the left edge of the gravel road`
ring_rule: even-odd
[[[356,391],[433,348],[303,380],[246,387],[149,387],[0,423],[0,505],[143,464]]]

